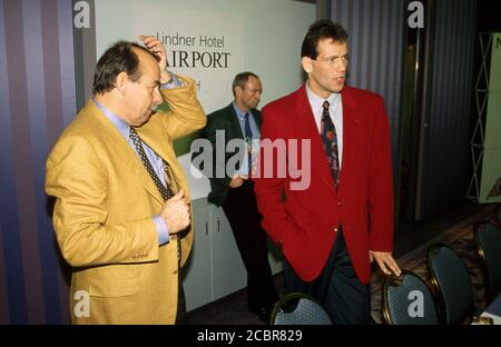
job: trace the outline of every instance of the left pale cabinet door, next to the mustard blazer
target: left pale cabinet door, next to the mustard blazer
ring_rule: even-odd
[[[195,235],[190,257],[183,268],[186,310],[210,303],[210,207],[194,206]]]

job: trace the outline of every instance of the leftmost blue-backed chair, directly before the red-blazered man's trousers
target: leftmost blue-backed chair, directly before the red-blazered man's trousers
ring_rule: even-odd
[[[322,305],[303,293],[291,293],[275,303],[272,325],[332,325]]]

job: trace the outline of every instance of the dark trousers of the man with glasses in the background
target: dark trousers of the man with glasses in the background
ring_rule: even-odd
[[[268,262],[268,241],[261,226],[254,182],[245,180],[240,187],[229,188],[223,210],[247,270],[248,307],[271,307],[278,294]]]

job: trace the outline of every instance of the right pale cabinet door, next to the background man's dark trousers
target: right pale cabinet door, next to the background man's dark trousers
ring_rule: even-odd
[[[212,208],[213,300],[247,285],[247,272],[222,208]]]

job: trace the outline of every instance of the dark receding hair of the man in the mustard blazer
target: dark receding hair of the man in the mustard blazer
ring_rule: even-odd
[[[127,72],[132,81],[141,77],[139,58],[132,48],[143,50],[157,61],[159,60],[159,57],[135,42],[118,41],[99,58],[94,73],[92,93],[98,95],[112,90],[117,76],[122,71]]]

